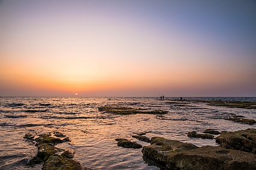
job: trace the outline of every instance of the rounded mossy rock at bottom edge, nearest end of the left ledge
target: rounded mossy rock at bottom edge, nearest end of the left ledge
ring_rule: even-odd
[[[76,160],[65,156],[53,155],[44,163],[42,170],[83,170]]]

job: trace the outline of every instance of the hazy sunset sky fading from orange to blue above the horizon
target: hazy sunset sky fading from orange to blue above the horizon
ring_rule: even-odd
[[[2,97],[256,97],[256,1],[2,0],[0,29]]]

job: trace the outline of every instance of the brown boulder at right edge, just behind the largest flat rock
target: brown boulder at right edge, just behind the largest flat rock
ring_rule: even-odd
[[[227,149],[242,150],[256,154],[256,129],[224,132],[215,138],[216,143]]]

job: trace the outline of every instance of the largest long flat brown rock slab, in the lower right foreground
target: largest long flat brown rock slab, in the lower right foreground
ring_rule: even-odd
[[[182,143],[153,137],[150,146],[144,146],[143,156],[150,157],[168,169],[231,170],[256,169],[256,155],[223,147]]]

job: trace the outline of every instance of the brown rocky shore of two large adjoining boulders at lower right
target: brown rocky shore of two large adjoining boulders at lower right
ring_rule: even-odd
[[[197,147],[161,137],[151,138],[143,156],[167,169],[256,169],[256,129],[223,132],[216,138],[221,146]],[[251,152],[251,153],[249,153]]]

